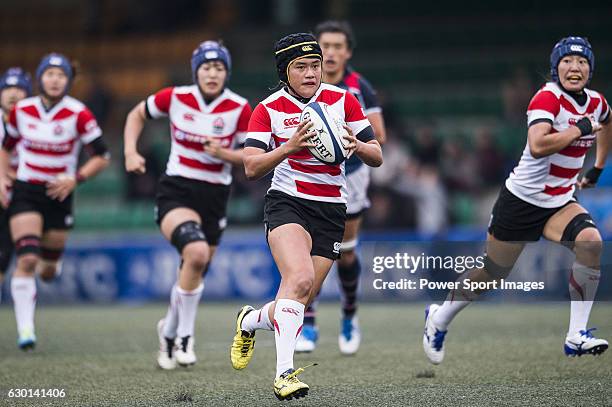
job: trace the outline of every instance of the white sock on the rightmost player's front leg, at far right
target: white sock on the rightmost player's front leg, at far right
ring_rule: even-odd
[[[569,292],[570,292],[570,325],[567,336],[572,336],[581,330],[586,330],[589,322],[589,315],[593,307],[593,300],[597,293],[601,272],[574,263],[570,273]]]

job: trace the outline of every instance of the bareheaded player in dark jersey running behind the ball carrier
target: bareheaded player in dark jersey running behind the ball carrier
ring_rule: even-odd
[[[323,82],[336,85],[355,95],[374,130],[379,144],[385,142],[385,124],[376,92],[365,78],[349,66],[355,49],[355,37],[345,21],[325,21],[315,28],[315,36],[323,50]],[[361,264],[355,253],[364,212],[370,207],[367,191],[370,169],[352,155],[346,162],[348,198],[347,221],[338,259],[338,278],[342,291],[342,321],[338,346],[340,352],[352,355],[359,349],[361,331],[357,319],[357,288]],[[311,352],[319,336],[316,327],[316,302],[306,310],[304,328],[296,345],[297,352]]]

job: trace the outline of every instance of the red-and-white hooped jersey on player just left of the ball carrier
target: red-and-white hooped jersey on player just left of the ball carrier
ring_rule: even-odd
[[[251,107],[229,89],[206,104],[197,85],[160,90],[147,98],[147,110],[157,119],[169,116],[172,147],[167,175],[232,183],[232,165],[204,151],[208,139],[217,139],[223,148],[235,148],[246,139]]]

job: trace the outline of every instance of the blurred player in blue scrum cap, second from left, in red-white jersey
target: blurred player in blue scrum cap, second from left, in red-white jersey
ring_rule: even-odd
[[[11,293],[19,331],[18,344],[31,349],[36,342],[35,273],[45,281],[59,272],[60,259],[73,226],[73,191],[77,183],[96,175],[109,162],[108,149],[92,113],[67,95],[75,71],[68,58],[52,53],[36,70],[40,95],[19,101],[11,110],[7,137],[0,153],[0,201],[8,204],[17,267]],[[17,145],[14,183],[9,154]],[[81,146],[90,158],[77,169]]]

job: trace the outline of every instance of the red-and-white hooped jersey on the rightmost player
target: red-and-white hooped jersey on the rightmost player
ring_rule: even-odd
[[[547,83],[529,103],[528,125],[546,121],[551,123],[552,133],[558,133],[585,116],[599,122],[607,120],[610,108],[604,96],[590,89],[584,91],[586,103],[580,106],[556,83]],[[542,208],[565,205],[572,199],[584,157],[595,138],[594,134],[587,134],[558,153],[542,158],[534,158],[527,143],[521,160],[506,180],[506,187],[532,205]]]

